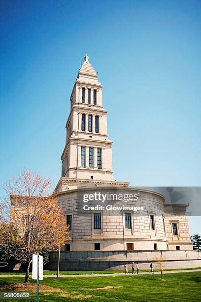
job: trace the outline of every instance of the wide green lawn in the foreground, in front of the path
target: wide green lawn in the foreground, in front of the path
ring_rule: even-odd
[[[45,278],[41,284],[60,292],[41,292],[40,301],[201,301],[201,272],[164,274],[163,278],[166,281],[159,281],[160,275]],[[23,278],[0,278],[0,285],[14,282]],[[113,288],[98,289],[108,286]]]

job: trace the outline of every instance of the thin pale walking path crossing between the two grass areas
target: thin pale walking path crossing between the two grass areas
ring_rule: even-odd
[[[183,270],[167,270],[164,272],[164,274],[172,274],[172,273],[182,273],[182,272],[196,272],[196,271],[201,271],[201,269],[183,269]],[[139,273],[140,275],[148,275],[150,272],[141,272]],[[160,271],[155,271],[154,274],[161,274]],[[130,276],[132,273],[126,274],[126,276]],[[137,275],[136,272],[134,276]],[[125,273],[113,273],[113,274],[83,274],[83,275],[64,275],[60,274],[59,277],[105,277],[105,276],[125,276]],[[0,275],[0,278],[3,277],[24,277],[24,275]],[[43,275],[44,278],[56,278],[57,275]]]

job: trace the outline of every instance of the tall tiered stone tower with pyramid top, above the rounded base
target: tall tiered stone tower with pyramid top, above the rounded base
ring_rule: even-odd
[[[102,185],[108,185],[105,181],[112,182],[112,141],[107,136],[107,111],[102,108],[102,85],[88,55],[84,56],[70,95],[66,145],[61,160],[61,179],[66,184],[62,190],[83,183],[89,186],[97,181]]]

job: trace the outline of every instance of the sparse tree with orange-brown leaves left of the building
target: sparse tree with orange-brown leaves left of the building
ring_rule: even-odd
[[[50,180],[25,170],[6,183],[7,196],[0,206],[0,246],[25,264],[29,282],[32,255],[37,250],[57,250],[70,240],[65,217],[50,194]]]

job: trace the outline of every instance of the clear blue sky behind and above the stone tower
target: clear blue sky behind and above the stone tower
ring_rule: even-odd
[[[0,44],[0,196],[24,167],[58,182],[85,53],[103,84],[114,180],[201,186],[201,1],[1,0]]]

